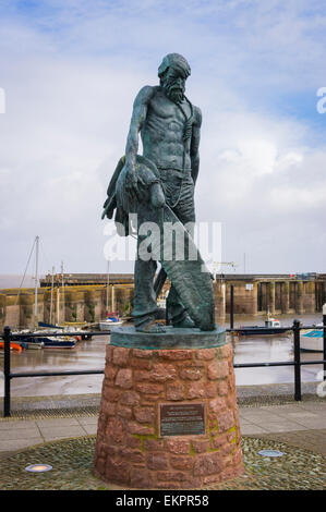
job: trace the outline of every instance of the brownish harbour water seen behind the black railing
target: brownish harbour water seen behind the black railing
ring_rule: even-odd
[[[282,326],[291,326],[293,318],[303,325],[322,321],[322,315],[277,315]],[[241,317],[236,315],[234,327],[240,325],[263,325],[264,317]],[[229,327],[225,324],[224,327]],[[26,350],[22,353],[11,352],[12,371],[51,371],[76,369],[104,369],[105,350],[109,336],[95,337],[89,341],[81,341],[72,350],[44,349]],[[293,361],[292,334],[274,337],[234,338],[234,363],[262,363]],[[322,353],[301,353],[302,359],[322,359]],[[3,358],[0,359],[2,365]],[[322,379],[322,364],[302,366],[301,375],[304,382],[316,382]],[[237,386],[268,383],[292,383],[293,367],[236,368]],[[100,393],[102,375],[67,376],[67,377],[33,377],[16,378],[11,381],[12,397],[45,397],[84,393]],[[0,395],[3,392],[0,382]]]

